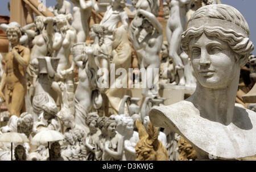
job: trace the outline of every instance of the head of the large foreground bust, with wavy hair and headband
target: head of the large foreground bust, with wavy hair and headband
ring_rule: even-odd
[[[242,14],[229,5],[198,9],[182,34],[181,47],[191,57],[197,82],[211,89],[225,88],[254,49],[249,26]]]

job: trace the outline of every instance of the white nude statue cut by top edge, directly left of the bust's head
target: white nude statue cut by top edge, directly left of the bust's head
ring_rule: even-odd
[[[195,86],[195,79],[187,54],[180,48],[181,33],[186,27],[186,6],[191,0],[172,0],[170,17],[166,26],[167,41],[169,44],[169,56],[175,67],[175,73],[179,76],[178,85]]]

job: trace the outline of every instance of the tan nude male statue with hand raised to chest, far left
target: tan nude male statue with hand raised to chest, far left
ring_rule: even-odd
[[[10,115],[19,116],[26,111],[24,97],[27,91],[26,70],[30,62],[30,50],[19,45],[22,33],[18,27],[8,28],[6,34],[13,50],[7,53],[4,59],[6,65],[0,86],[0,96],[5,100]]]

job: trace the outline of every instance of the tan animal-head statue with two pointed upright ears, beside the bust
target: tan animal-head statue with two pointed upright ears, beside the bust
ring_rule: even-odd
[[[139,132],[139,142],[135,149],[137,161],[168,161],[168,152],[158,140],[158,129],[150,122],[147,131],[140,120],[136,121]]]

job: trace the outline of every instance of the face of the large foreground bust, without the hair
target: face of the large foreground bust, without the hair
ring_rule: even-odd
[[[240,73],[241,66],[236,62],[236,53],[228,43],[217,37],[203,33],[191,40],[189,51],[195,77],[201,86],[222,89]]]

